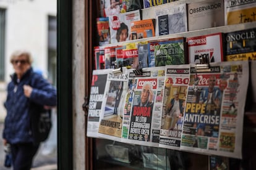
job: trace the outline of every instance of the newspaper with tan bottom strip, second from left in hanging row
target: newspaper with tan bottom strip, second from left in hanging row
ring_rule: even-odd
[[[105,139],[121,141],[122,110],[127,91],[128,73],[122,68],[121,74],[108,74],[104,101],[101,106],[100,125],[98,136]]]

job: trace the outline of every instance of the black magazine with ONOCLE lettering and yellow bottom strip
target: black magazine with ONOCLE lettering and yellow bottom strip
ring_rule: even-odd
[[[256,28],[224,34],[224,60],[256,60]]]

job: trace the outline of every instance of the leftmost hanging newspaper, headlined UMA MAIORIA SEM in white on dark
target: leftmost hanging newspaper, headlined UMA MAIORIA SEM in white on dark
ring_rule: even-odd
[[[111,71],[111,69],[93,70],[87,121],[87,137],[98,137],[101,106],[105,100],[104,92],[108,73]]]

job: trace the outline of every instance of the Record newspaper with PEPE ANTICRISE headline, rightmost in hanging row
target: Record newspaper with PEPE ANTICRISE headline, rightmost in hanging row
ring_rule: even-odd
[[[242,158],[248,81],[247,61],[211,63],[210,72],[192,66],[181,150]]]

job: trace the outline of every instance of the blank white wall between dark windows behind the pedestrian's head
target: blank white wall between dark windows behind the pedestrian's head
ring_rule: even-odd
[[[13,68],[9,62],[17,49],[30,51],[33,67],[46,71],[48,63],[48,15],[56,16],[57,0],[1,0],[6,9],[6,75]]]

